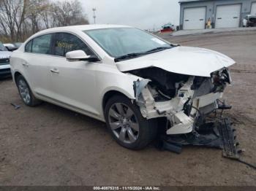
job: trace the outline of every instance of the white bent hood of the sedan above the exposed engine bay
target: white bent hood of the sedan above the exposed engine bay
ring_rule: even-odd
[[[197,47],[173,47],[116,63],[120,71],[157,67],[177,74],[211,77],[213,71],[231,66],[233,59],[213,50]]]

